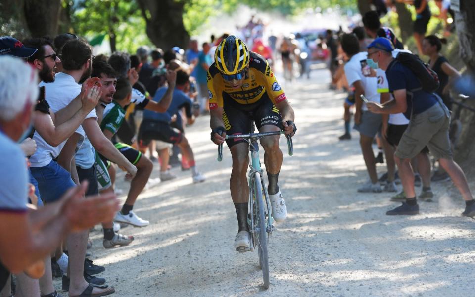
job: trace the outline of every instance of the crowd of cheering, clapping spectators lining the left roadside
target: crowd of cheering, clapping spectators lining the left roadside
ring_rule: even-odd
[[[170,155],[181,155],[193,183],[205,181],[185,137],[209,114],[211,45],[196,45],[186,54],[140,47],[136,55],[94,56],[69,33],[0,38],[0,179],[9,185],[0,195],[0,296],[58,297],[53,277],[71,297],[114,293],[95,276],[105,267],[89,259],[89,229],[102,224],[104,248],[133,242],[121,224],[149,224],[134,204],[154,184],[154,162],[162,182],[176,177]],[[117,169],[130,182],[121,206]]]

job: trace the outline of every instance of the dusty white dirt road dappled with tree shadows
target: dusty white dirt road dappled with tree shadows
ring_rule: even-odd
[[[231,155],[225,148],[217,162],[203,117],[186,135],[207,180],[192,184],[190,172],[173,169],[179,178],[143,192],[134,210],[150,225],[122,229],[135,236],[129,247],[106,250],[99,227],[92,232],[92,259],[106,266],[99,276],[116,288],[113,296],[474,296],[475,225],[460,217],[464,203],[452,183],[434,184],[435,202],[421,202],[420,215],[386,216],[397,205],[392,194],[356,192],[367,179],[359,137],[337,140],[345,95],[327,86],[325,70],[283,83],[298,131],[294,156],[281,141],[289,214],[269,241],[269,290],[260,286],[257,252],[233,249]]]

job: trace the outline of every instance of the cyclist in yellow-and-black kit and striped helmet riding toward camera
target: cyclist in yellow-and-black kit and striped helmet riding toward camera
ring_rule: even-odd
[[[208,70],[208,91],[211,140],[215,144],[224,143],[226,134],[248,133],[251,120],[259,132],[279,131],[281,125],[287,135],[292,136],[296,131],[293,109],[269,64],[233,35],[221,41],[216,49],[214,63]],[[276,222],[282,222],[287,217],[287,208],[277,185],[282,165],[279,135],[268,136],[260,142],[265,150],[272,212]],[[243,139],[226,140],[226,143],[233,158],[230,190],[239,225],[234,247],[248,248],[248,144]]]

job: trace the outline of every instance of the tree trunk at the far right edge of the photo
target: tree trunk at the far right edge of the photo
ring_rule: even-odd
[[[475,75],[475,5],[472,0],[460,0],[460,12],[455,12],[455,27],[459,37],[460,57],[467,65],[468,74]],[[475,100],[467,100],[468,105],[475,106]],[[471,173],[475,163],[475,114],[469,110],[462,111],[460,120],[463,124],[456,160]]]

